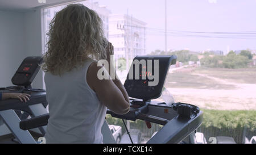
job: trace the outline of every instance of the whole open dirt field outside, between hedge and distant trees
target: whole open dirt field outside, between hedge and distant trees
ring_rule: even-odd
[[[118,75],[125,82],[127,73]],[[256,68],[171,68],[165,87],[175,102],[216,110],[256,110]]]

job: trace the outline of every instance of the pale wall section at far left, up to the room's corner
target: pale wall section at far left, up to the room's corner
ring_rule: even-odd
[[[12,86],[11,78],[26,57],[23,14],[0,11],[0,87]]]

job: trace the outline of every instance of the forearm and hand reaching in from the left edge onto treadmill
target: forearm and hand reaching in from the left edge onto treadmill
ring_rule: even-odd
[[[19,99],[21,102],[23,100],[27,102],[27,100],[30,100],[30,95],[26,93],[0,93],[0,100],[5,99]]]

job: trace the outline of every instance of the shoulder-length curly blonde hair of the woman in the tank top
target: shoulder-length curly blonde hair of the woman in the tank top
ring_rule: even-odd
[[[49,24],[44,72],[54,75],[82,66],[88,58],[106,58],[104,31],[98,14],[80,4],[72,4],[57,12]]]

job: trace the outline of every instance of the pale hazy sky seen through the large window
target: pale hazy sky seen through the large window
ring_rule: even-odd
[[[146,22],[147,52],[166,49],[165,6],[167,6],[167,50],[226,52],[227,49],[256,49],[256,0],[167,0],[167,5],[165,0],[93,0],[92,2],[105,5],[112,14],[129,14]],[[226,34],[226,32],[233,33]]]

